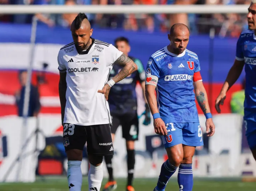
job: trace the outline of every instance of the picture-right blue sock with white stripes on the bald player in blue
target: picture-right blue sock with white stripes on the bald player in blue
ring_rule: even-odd
[[[192,191],[193,171],[192,164],[181,164],[179,166],[178,184],[182,191]]]

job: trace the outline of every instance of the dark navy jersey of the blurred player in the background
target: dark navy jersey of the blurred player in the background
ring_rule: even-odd
[[[119,81],[109,92],[109,109],[111,114],[123,115],[137,113],[137,82],[145,81],[145,71],[139,59],[129,56],[138,66],[138,70],[127,76],[125,79]],[[123,66],[115,64],[109,74],[109,80],[122,70]]]

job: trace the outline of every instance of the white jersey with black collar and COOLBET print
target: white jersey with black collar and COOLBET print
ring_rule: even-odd
[[[80,54],[74,42],[58,54],[60,72],[67,72],[64,123],[75,125],[112,124],[105,96],[98,93],[108,80],[114,62],[123,54],[112,44],[92,39]]]

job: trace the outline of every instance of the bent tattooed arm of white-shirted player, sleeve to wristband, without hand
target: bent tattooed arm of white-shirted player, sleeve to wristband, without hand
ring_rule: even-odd
[[[115,61],[115,64],[124,66],[123,69],[120,70],[120,72],[115,77],[113,77],[113,80],[115,82],[119,82],[119,81],[123,80],[125,77],[129,76],[130,74],[132,74],[132,72],[137,70],[137,65],[129,57],[127,57],[124,54],[122,54]]]

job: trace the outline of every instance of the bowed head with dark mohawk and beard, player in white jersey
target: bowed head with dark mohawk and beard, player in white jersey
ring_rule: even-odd
[[[90,22],[84,13],[79,13],[71,24],[72,37],[75,42],[76,50],[87,50],[91,44],[91,35],[93,29],[91,29]]]

